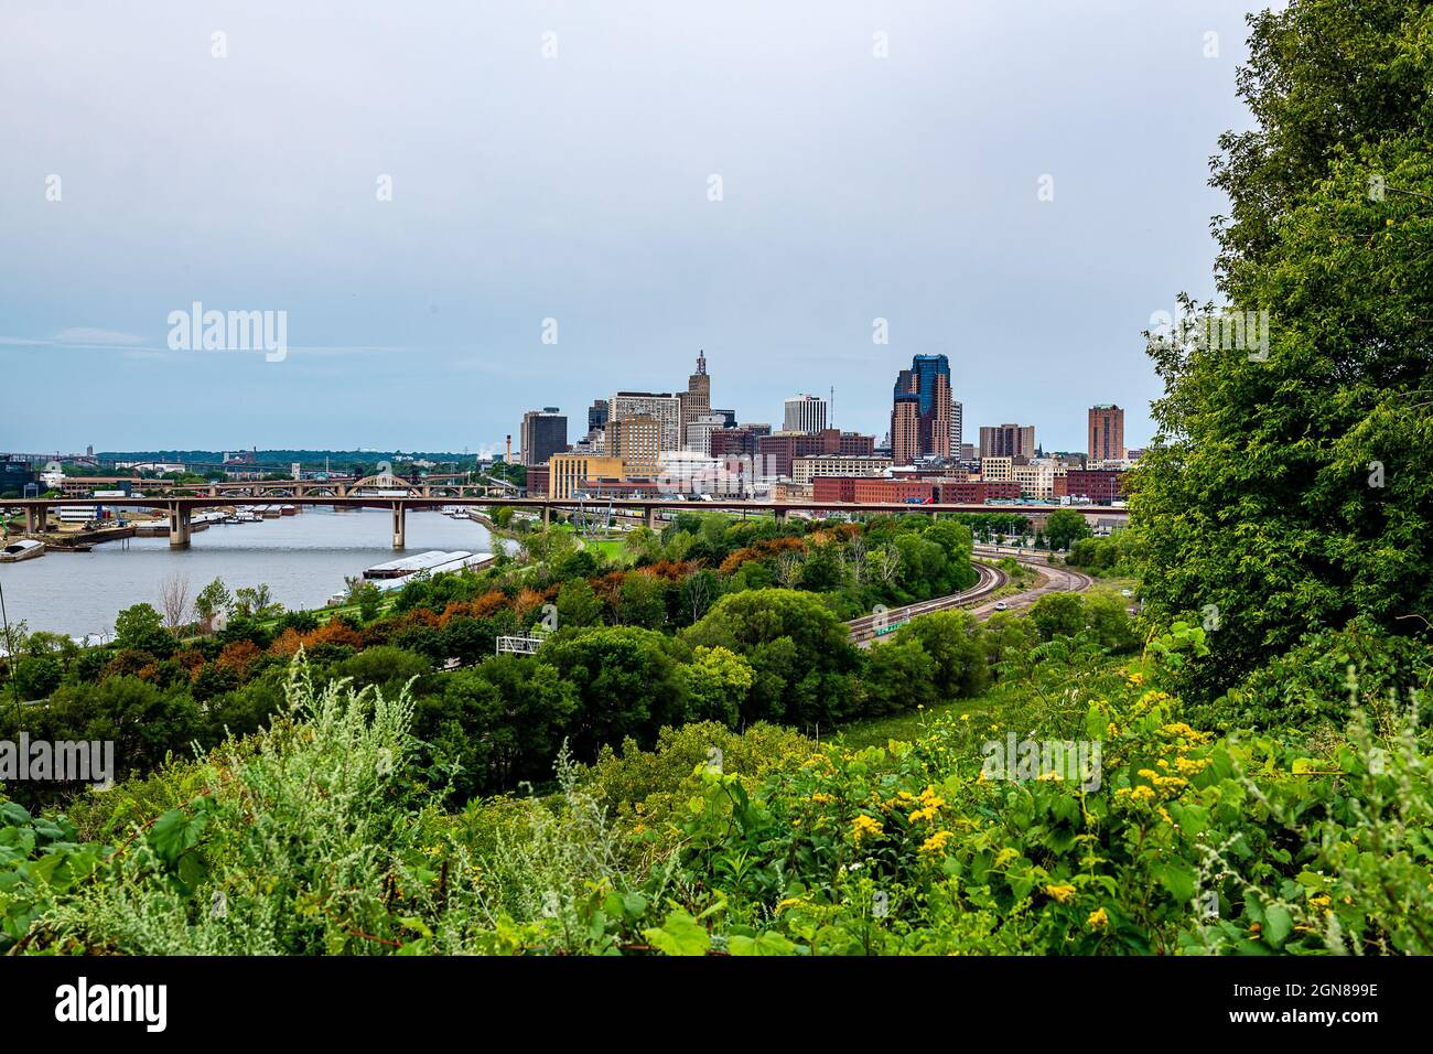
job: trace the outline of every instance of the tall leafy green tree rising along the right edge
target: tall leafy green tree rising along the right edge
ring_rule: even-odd
[[[1303,0],[1251,26],[1255,125],[1212,182],[1221,298],[1262,336],[1151,341],[1165,394],[1131,499],[1145,611],[1209,628],[1182,687],[1211,694],[1307,632],[1433,611],[1433,9]]]

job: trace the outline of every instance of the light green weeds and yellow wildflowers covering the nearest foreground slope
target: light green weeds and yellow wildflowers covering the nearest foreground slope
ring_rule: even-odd
[[[992,779],[980,744],[1007,727],[946,713],[864,749],[688,724],[457,812],[406,693],[317,687],[295,657],[269,728],[70,819],[0,806],[0,946],[1433,952],[1426,733],[1403,703],[1354,687],[1336,733],[1217,736],[1158,687],[1201,630],[1126,671],[1055,645],[1010,671],[1032,706],[1009,731],[1101,740],[1093,787]]]

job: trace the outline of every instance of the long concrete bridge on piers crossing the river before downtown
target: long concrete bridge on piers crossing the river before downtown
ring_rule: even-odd
[[[663,512],[741,512],[765,515],[770,513],[777,521],[784,521],[792,512],[807,513],[847,513],[847,515],[901,515],[924,513],[936,516],[941,512],[992,513],[1013,512],[1029,518],[1037,526],[1045,523],[1046,516],[1060,508],[1073,508],[1083,513],[1088,521],[1095,519],[1129,519],[1128,509],[1113,509],[1099,505],[904,505],[896,502],[754,502],[742,498],[716,499],[711,502],[661,500],[648,498],[613,499],[608,502],[592,502],[577,498],[510,498],[510,496],[461,496],[423,493],[353,493],[370,486],[367,480],[358,480],[347,495],[292,495],[284,496],[284,505],[331,505],[334,508],[355,509],[391,509],[393,511],[393,548],[403,549],[407,545],[407,511],[431,509],[444,505],[461,505],[470,508],[514,508],[532,509],[542,515],[542,522],[552,521],[553,509],[576,511],[579,508],[592,509],[595,506],[613,513],[629,516],[641,515],[649,528],[656,528]],[[377,485],[371,485],[377,486]],[[0,513],[24,512],[26,533],[39,533],[44,529],[46,516],[50,509],[60,506],[90,505],[95,508],[125,505],[128,508],[155,509],[169,516],[169,545],[176,549],[189,546],[189,523],[193,512],[199,509],[214,509],[231,505],[272,505],[272,500],[244,500],[242,496],[211,493],[211,495],[156,495],[152,498],[11,498],[0,499]]]

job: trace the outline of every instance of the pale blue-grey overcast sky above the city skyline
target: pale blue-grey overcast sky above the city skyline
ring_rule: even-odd
[[[576,439],[698,348],[739,420],[834,386],[880,437],[944,353],[966,442],[1119,403],[1139,446],[1250,7],[6,0],[0,449]],[[171,350],[193,301],[287,356]]]

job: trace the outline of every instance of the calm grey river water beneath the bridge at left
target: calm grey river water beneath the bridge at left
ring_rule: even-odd
[[[222,578],[231,591],[267,582],[285,608],[320,608],[344,588],[344,578],[400,555],[427,549],[492,552],[481,523],[441,512],[408,511],[404,554],[393,551],[388,509],[302,506],[297,516],[261,523],[216,523],[196,531],[188,549],[168,538],[106,542],[90,552],[46,552],[20,564],[0,564],[4,605],[32,631],[85,637],[113,632],[115,615],[132,604],[160,608],[160,584],[188,579],[191,599]]]

